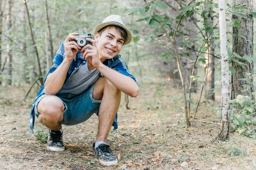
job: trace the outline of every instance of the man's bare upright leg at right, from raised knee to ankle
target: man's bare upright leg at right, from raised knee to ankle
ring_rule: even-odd
[[[99,130],[96,142],[107,142],[109,130],[120,105],[121,91],[108,79],[100,77],[93,89],[93,99],[102,99],[99,107]]]

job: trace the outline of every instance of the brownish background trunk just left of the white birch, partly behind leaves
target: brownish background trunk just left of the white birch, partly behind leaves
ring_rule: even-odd
[[[207,9],[207,5],[209,3],[205,4],[205,10],[210,11],[212,8]],[[213,23],[213,15],[212,12],[208,13],[207,17],[207,23],[209,27],[212,27]],[[208,35],[207,35],[208,36]],[[204,97],[206,99],[215,100],[215,92],[214,92],[214,73],[215,73],[215,58],[213,57],[214,51],[215,51],[215,45],[212,44],[212,41],[214,40],[213,34],[211,34],[208,38],[208,43],[206,43],[207,51],[204,55],[204,58],[206,59],[206,63],[204,65],[205,75],[207,76],[206,82],[205,82],[205,95]],[[212,55],[211,55],[212,54]]]

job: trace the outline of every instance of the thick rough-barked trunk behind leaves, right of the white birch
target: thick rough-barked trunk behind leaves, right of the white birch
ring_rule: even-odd
[[[253,0],[235,0],[234,5],[245,6],[248,9],[239,10],[239,13],[246,15],[247,18],[233,14],[232,19],[239,20],[241,23],[241,26],[233,27],[233,51],[241,57],[246,55],[253,57],[253,16],[250,14],[253,11]],[[252,97],[253,77],[250,79],[245,76],[245,73],[253,74],[253,62],[250,63],[243,58],[239,59],[237,57],[233,57],[233,59],[239,60],[245,65],[237,65],[236,61],[232,61],[232,67],[235,68],[236,73],[231,74],[231,99],[236,99],[239,94]],[[250,91],[244,91],[243,85],[250,85]]]

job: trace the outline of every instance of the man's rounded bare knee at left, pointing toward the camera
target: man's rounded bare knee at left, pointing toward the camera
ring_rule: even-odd
[[[38,103],[38,119],[41,122],[44,119],[47,122],[56,124],[63,117],[64,104],[58,97],[47,96]]]

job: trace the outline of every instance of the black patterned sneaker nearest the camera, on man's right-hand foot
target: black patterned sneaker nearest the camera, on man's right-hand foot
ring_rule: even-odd
[[[99,163],[106,166],[111,166],[117,164],[117,159],[112,153],[108,144],[100,144],[94,149],[95,143],[93,143],[93,151],[99,158]]]

